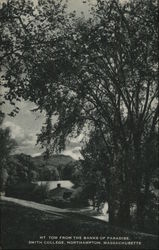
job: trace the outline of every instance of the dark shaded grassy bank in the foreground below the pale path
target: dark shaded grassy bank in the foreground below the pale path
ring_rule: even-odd
[[[73,213],[46,213],[9,202],[1,205],[2,249],[157,249],[153,236],[123,232],[107,223]],[[44,236],[40,238],[40,236]],[[56,236],[54,239],[53,237]],[[61,239],[68,236],[69,240]],[[75,237],[76,236],[76,237]],[[84,239],[84,237],[95,237]],[[99,240],[105,237],[104,240]],[[128,237],[125,241],[111,237]],[[72,238],[71,238],[72,237]],[[109,238],[108,238],[109,237]],[[70,240],[71,239],[71,240]],[[124,245],[121,242],[131,242]],[[90,242],[92,242],[90,244]],[[105,242],[105,243],[104,243]],[[117,242],[108,245],[108,242]],[[134,246],[133,242],[141,242]],[[110,243],[109,243],[110,244]]]

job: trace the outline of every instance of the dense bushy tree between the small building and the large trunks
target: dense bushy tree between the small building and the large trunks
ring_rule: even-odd
[[[83,156],[81,172],[85,195],[93,201],[94,208],[97,204],[99,207],[101,203],[109,200],[108,190],[113,180],[110,180],[109,174],[110,155],[106,151],[105,143],[98,129],[90,135],[81,154]]]

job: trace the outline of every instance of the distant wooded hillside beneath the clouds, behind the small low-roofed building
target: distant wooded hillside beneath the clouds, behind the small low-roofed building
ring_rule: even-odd
[[[8,181],[19,183],[71,179],[75,162],[76,160],[67,155],[53,155],[48,160],[45,160],[43,155],[12,155],[7,164]]]

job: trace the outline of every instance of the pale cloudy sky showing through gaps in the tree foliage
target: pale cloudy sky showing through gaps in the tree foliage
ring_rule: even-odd
[[[0,3],[4,1],[5,0],[0,0]],[[83,2],[83,0],[69,0],[69,9],[71,11],[76,10],[78,14],[84,12],[87,16],[88,6]],[[14,153],[25,153],[32,156],[40,155],[43,150],[39,145],[36,145],[36,140],[37,134],[40,133],[41,127],[45,122],[45,115],[40,112],[33,113],[31,110],[35,108],[35,105],[29,101],[22,100],[18,103],[18,107],[20,108],[20,112],[14,118],[7,115],[12,109],[9,103],[5,104],[2,108],[6,114],[3,127],[10,127],[11,137],[14,138],[18,144]],[[81,136],[70,140],[62,154],[70,155],[74,159],[81,158],[80,140]]]

